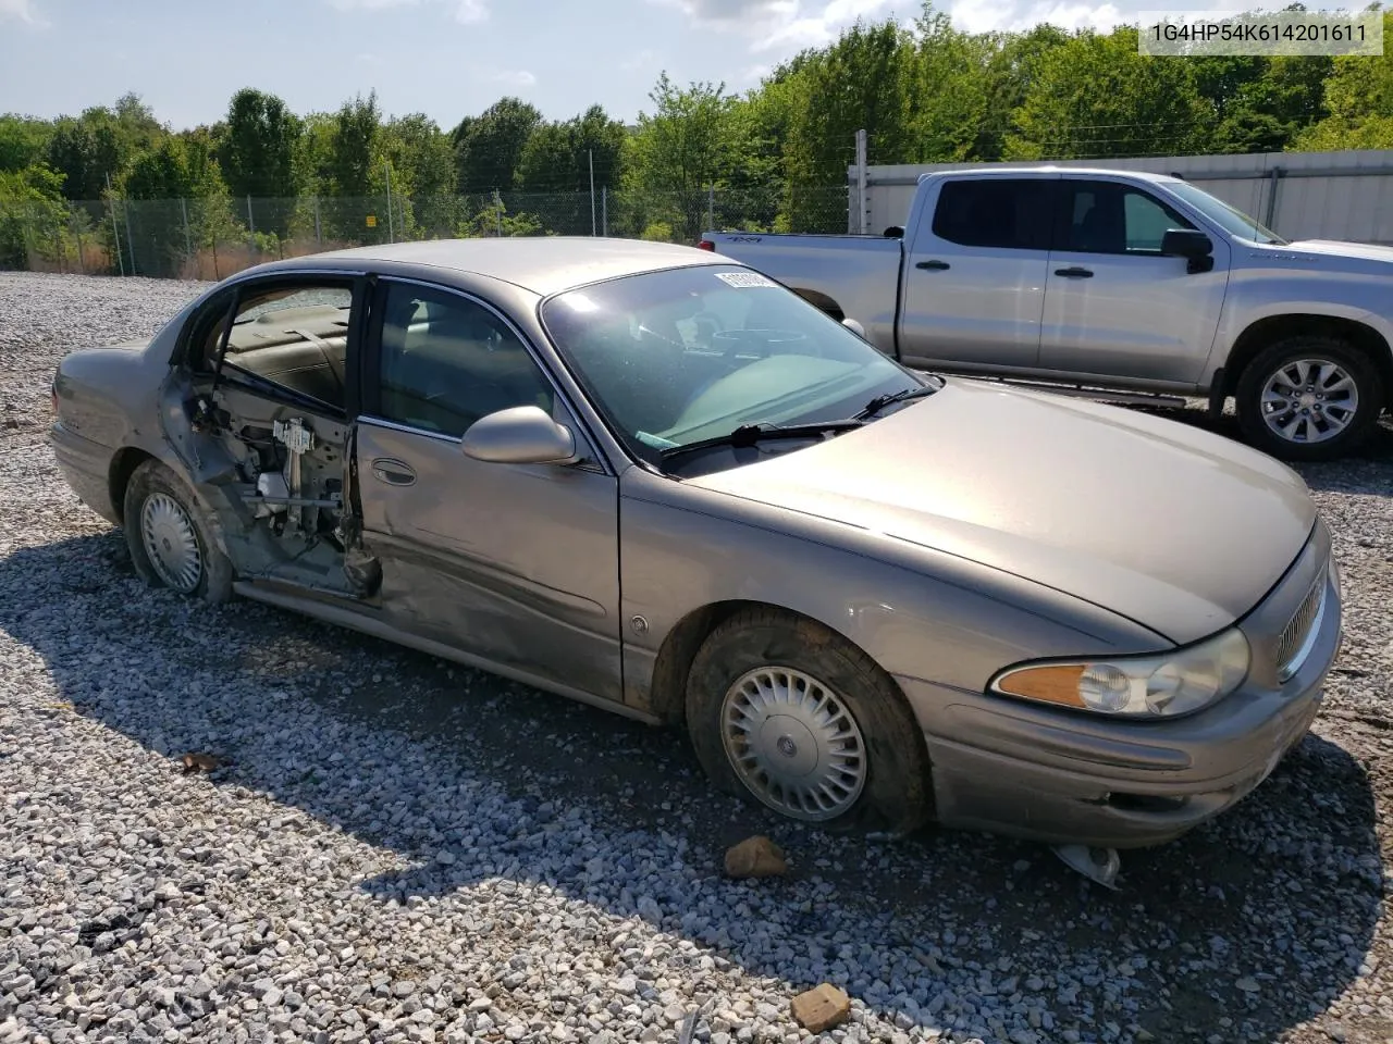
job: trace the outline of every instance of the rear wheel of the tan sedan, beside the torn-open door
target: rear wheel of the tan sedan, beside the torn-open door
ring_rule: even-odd
[[[226,601],[233,565],[212,539],[205,511],[167,466],[145,461],[125,487],[125,544],[135,572],[152,587]]]

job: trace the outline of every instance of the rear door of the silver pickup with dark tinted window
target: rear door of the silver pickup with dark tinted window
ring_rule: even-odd
[[[944,178],[925,199],[918,227],[907,230],[901,276],[907,365],[968,373],[1035,367],[1057,180],[972,173]]]

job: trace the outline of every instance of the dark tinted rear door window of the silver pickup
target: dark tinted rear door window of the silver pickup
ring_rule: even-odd
[[[933,209],[933,234],[963,246],[1049,249],[1046,178],[944,181]]]

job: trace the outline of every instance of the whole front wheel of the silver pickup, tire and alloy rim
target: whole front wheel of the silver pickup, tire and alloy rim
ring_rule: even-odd
[[[1330,461],[1373,432],[1383,381],[1348,341],[1298,334],[1259,352],[1234,398],[1243,433],[1256,448],[1286,461]]]

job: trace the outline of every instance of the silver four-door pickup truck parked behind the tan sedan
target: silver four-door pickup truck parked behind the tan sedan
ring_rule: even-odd
[[[1096,398],[1236,401],[1286,459],[1353,451],[1393,405],[1393,248],[1289,242],[1180,178],[925,174],[883,235],[706,232],[908,366]]]

